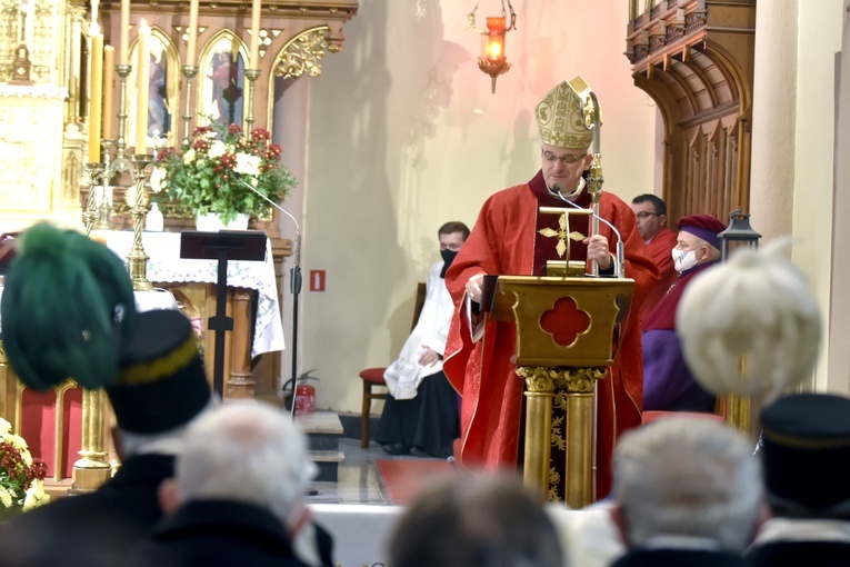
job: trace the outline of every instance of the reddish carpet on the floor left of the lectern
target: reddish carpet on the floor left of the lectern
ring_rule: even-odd
[[[398,505],[410,504],[423,488],[459,474],[453,464],[437,459],[378,459],[374,466],[387,496]]]

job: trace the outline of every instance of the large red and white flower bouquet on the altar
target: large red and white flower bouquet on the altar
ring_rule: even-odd
[[[196,215],[218,213],[222,222],[268,211],[267,201],[244,182],[273,202],[297,185],[268,130],[257,128],[248,138],[240,126],[220,122],[196,128],[184,148],[159,151],[150,176],[154,201],[179,201]]]

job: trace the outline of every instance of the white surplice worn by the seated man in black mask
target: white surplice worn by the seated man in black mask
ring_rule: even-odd
[[[446,351],[446,340],[449,338],[449,324],[454,304],[446,288],[446,280],[440,277],[442,265],[443,262],[437,262],[431,266],[419,321],[401,348],[399,358],[383,372],[387,388],[396,399],[414,398],[422,379],[442,370],[442,360],[429,366],[419,364],[419,357],[426,347],[442,356]]]

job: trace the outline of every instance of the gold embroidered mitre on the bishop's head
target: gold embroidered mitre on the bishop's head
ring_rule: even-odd
[[[586,126],[583,109],[590,102],[590,86],[581,77],[563,81],[537,106],[537,126],[543,143],[584,150],[593,143],[593,129]],[[600,116],[600,123],[601,123]],[[592,119],[590,120],[592,125]]]

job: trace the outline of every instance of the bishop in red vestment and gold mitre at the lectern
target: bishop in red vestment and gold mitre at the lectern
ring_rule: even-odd
[[[584,129],[581,120],[559,116],[564,110],[573,118],[578,116],[582,99],[574,86],[581,84],[580,78],[564,81],[538,106],[543,141],[541,171],[528,183],[499,191],[487,200],[466,246],[446,275],[456,312],[443,370],[462,396],[462,438],[456,457],[468,468],[516,468],[523,382],[510,360],[516,354],[516,325],[491,320],[483,314],[469,321],[467,301],[480,299],[483,275],[543,275],[546,260],[557,259],[556,239],[539,232],[553,217],[539,215],[539,207],[564,207],[556,191],[582,208],[590,206],[583,173],[591,161],[588,148],[592,130]],[[611,455],[617,437],[640,424],[642,358],[639,320],[634,314],[658,281],[658,270],[638,233],[629,205],[603,192],[600,216],[622,236],[626,277],[634,279],[636,287],[632,315],[626,322],[614,365],[598,382],[598,498],[610,491]],[[616,241],[610,229],[600,223],[599,235],[571,243],[570,258],[597,260],[604,272],[612,267]],[[473,340],[470,322],[483,325],[479,340]]]

